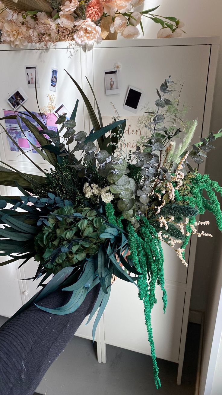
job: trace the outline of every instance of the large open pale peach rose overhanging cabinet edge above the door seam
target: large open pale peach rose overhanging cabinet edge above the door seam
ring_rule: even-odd
[[[96,24],[90,19],[80,19],[75,21],[77,32],[74,34],[74,40],[77,44],[90,44],[93,45],[94,42],[101,43],[101,28],[96,26]]]

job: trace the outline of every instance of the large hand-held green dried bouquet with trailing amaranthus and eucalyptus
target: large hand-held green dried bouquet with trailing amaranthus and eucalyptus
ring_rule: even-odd
[[[70,120],[65,115],[58,118],[57,131],[47,130],[43,118],[39,120],[24,106],[33,123],[22,111],[2,118],[23,121],[41,147],[30,144],[52,169],[45,171],[36,165],[42,175],[30,175],[2,162],[0,184],[17,186],[22,196],[1,196],[0,255],[10,259],[0,265],[18,259],[24,265],[33,257],[39,262],[34,279],[41,278],[42,289],[22,309],[33,302],[38,305],[49,293],[63,289],[72,291],[67,305],[39,308],[51,314],[69,314],[100,284],[88,320],[99,309],[93,338],[114,286],[114,276],[132,282],[144,303],[155,384],[159,387],[151,310],[157,303],[156,284],[162,289],[164,312],[167,303],[162,242],[174,248],[187,265],[184,254],[190,235],[212,236],[198,230],[198,225],[208,224],[196,220],[198,214],[211,211],[222,230],[222,213],[215,193],[222,195],[222,188],[191,166],[203,162],[222,132],[211,133],[191,145],[197,121],[181,121],[179,100],[175,98],[178,89],[168,77],[157,90],[155,109],[147,109],[140,120],[147,135],[138,142],[136,151],[127,155],[123,150],[125,120],[118,119],[116,112],[114,122],[103,126],[98,105],[97,118],[86,95],[71,79],[88,109],[93,124],[90,134],[76,130],[78,100]],[[21,128],[19,122],[18,125]],[[13,140],[3,125],[2,128]],[[22,128],[21,133],[25,133]],[[176,147],[178,137],[181,143]],[[81,152],[80,160],[76,152]],[[180,246],[175,247],[178,243]],[[45,284],[51,274],[54,276]]]

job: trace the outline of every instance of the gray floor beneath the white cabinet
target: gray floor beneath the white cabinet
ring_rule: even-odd
[[[108,346],[98,363],[90,340],[74,337],[45,374],[37,393],[46,395],[194,395],[200,325],[189,324],[181,386],[177,364],[158,360],[162,387],[153,381],[151,357]]]

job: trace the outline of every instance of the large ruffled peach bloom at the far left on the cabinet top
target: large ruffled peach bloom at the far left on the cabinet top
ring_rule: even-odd
[[[14,48],[23,48],[27,44],[26,38],[27,31],[24,25],[6,21],[2,28],[2,41],[8,41]]]

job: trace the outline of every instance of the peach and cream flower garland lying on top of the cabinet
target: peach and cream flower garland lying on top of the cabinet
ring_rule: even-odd
[[[12,0],[15,2],[15,0]],[[49,2],[49,0],[47,0]],[[51,13],[13,11],[0,1],[0,42],[23,48],[27,43],[75,41],[93,45],[104,39],[135,38],[142,26],[142,17],[161,25],[157,37],[180,37],[184,23],[175,17],[155,15],[158,7],[136,11],[142,0],[62,0],[49,2]],[[58,4],[58,5],[57,5]]]

